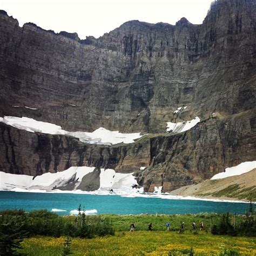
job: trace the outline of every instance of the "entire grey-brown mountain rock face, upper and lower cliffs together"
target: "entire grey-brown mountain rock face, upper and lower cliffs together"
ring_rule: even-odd
[[[1,124],[0,171],[36,176],[105,167],[136,172],[146,191],[170,191],[255,160],[253,0],[218,0],[200,25],[130,21],[85,40],[32,23],[21,28],[1,11],[0,34],[0,116],[69,131],[155,134],[97,146]],[[173,113],[180,106],[187,108]],[[166,122],[196,116],[203,122],[189,131],[157,135]]]

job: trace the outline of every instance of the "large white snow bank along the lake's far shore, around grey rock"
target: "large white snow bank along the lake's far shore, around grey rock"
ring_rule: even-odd
[[[42,190],[51,191],[66,185],[72,185],[73,191],[80,185],[83,177],[95,170],[95,167],[70,167],[69,169],[56,172],[44,173],[41,176],[11,174],[0,172],[0,190]],[[133,186],[138,185],[133,173],[116,173],[112,169],[100,169],[99,191],[113,190],[114,192],[134,192]]]

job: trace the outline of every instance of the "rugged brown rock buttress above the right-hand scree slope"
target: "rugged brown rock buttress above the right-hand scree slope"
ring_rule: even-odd
[[[210,179],[256,155],[255,111],[209,118],[190,131],[151,139],[150,167],[136,172],[146,191],[163,192]]]

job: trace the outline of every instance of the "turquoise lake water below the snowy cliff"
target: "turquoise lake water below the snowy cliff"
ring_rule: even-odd
[[[186,213],[245,213],[248,204],[202,200],[172,200],[161,198],[129,198],[93,194],[27,193],[0,191],[0,210],[23,208],[26,211],[52,208],[66,210],[58,212],[69,215],[81,204],[85,210],[96,209],[98,214],[186,214]]]

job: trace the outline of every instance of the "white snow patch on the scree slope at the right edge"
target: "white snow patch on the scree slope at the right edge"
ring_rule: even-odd
[[[256,168],[256,161],[244,162],[237,166],[226,168],[225,172],[215,174],[211,179],[223,179],[226,177],[241,175],[243,173],[250,172],[254,168]]]

